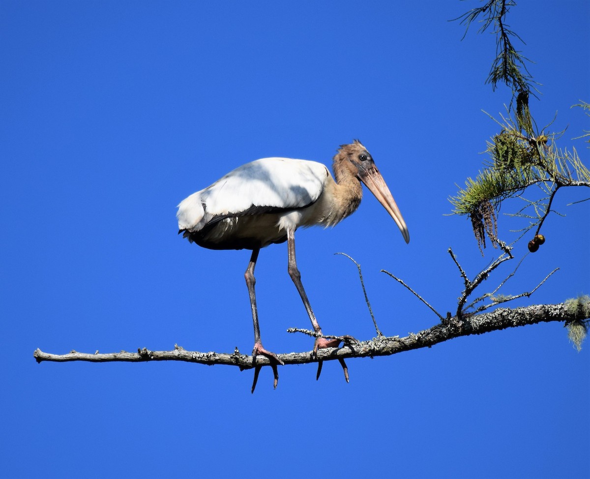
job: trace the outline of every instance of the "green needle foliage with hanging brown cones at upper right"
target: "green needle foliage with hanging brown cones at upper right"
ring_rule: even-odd
[[[540,130],[536,127],[529,109],[529,96],[534,95],[532,90],[536,90],[535,85],[538,83],[533,81],[526,68],[528,60],[512,43],[515,38],[523,42],[506,24],[506,15],[512,6],[516,6],[513,0],[489,0],[459,17],[467,29],[478,20],[481,23],[479,32],[493,25],[496,57],[486,83],[490,83],[493,90],[499,83],[504,83],[512,94],[507,118],[502,117],[501,122],[494,120],[500,126],[500,132],[487,142],[489,161],[485,168],[475,179],[467,178],[464,188],[460,188],[457,195],[450,198],[453,213],[467,215],[471,219],[480,251],[482,246],[486,247],[486,236],[494,247],[499,244],[497,212],[504,200],[522,198],[525,206],[510,216],[529,220],[529,224],[519,231],[526,232],[536,227],[536,234],[539,234],[553,196],[559,188],[590,186],[590,172],[576,150],[568,152],[556,147],[555,140],[563,132],[545,134],[550,124]],[[513,119],[510,110],[514,103],[516,114]],[[585,102],[577,106],[590,110],[590,105]],[[590,137],[590,132],[585,132],[579,138],[585,137]],[[524,199],[523,192],[533,186],[540,189],[540,194],[538,191],[536,195],[533,194],[533,198],[537,199]]]

